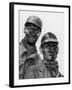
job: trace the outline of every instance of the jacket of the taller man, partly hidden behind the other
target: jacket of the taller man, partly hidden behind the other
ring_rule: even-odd
[[[28,45],[26,39],[23,39],[19,44],[19,79],[23,79],[25,60],[31,57],[39,58],[36,46]]]

